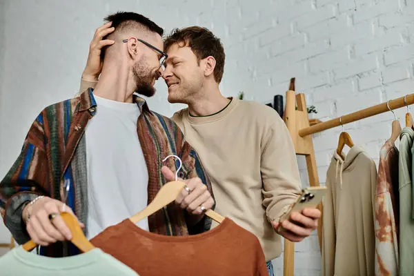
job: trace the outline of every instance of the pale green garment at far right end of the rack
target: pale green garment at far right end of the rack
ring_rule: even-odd
[[[404,128],[400,135],[398,181],[400,190],[400,275],[414,275],[414,220],[413,205],[413,141],[414,130]]]

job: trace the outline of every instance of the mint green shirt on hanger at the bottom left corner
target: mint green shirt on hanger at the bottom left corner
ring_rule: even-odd
[[[80,255],[51,258],[35,255],[19,246],[0,257],[0,275],[137,276],[137,273],[99,248]]]

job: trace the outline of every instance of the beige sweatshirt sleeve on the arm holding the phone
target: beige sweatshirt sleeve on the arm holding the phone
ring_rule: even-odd
[[[260,171],[268,221],[278,220],[301,192],[301,182],[292,139],[276,112],[262,139]]]

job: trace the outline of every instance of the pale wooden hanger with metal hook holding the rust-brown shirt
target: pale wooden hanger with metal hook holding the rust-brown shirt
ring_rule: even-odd
[[[178,172],[181,169],[181,159],[179,159],[179,157],[177,157],[176,155],[168,155],[168,157],[166,157],[163,161],[166,161],[166,159],[168,159],[169,157],[177,158],[180,163],[178,170],[175,172],[175,181],[170,181],[166,183],[164,186],[162,186],[159,189],[157,195],[155,195],[155,198],[151,201],[150,204],[148,204],[148,206],[146,206],[146,208],[144,208],[144,210],[141,210],[139,213],[130,217],[130,221],[132,221],[134,224],[137,224],[137,222],[141,219],[144,219],[145,217],[152,215],[153,213],[157,212],[157,210],[160,210],[161,208],[164,208],[165,206],[170,204],[178,197],[179,193],[181,193],[181,190],[183,190],[186,186],[186,184],[183,181],[177,180]],[[223,216],[219,215],[211,209],[206,210],[206,215],[208,217],[211,217],[218,223],[224,221]]]

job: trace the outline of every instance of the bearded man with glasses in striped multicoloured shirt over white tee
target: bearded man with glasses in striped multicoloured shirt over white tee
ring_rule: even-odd
[[[117,12],[106,21],[116,30],[109,42],[99,42],[112,46],[99,52],[101,75],[95,88],[41,112],[0,184],[6,226],[19,244],[29,239],[40,244],[42,255],[77,254],[63,242],[71,239],[59,216],[63,210],[79,219],[90,239],[146,208],[176,170],[177,160],[163,162],[170,155],[181,158],[179,176],[187,179],[186,186],[176,204],[138,226],[161,235],[210,228],[204,210],[215,203],[197,153],[173,121],[134,95],[155,94],[166,59],[163,30],[134,12]]]

